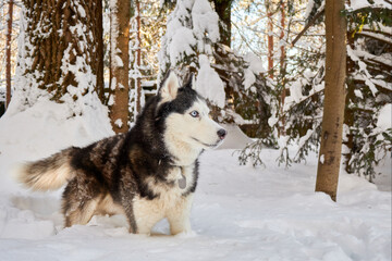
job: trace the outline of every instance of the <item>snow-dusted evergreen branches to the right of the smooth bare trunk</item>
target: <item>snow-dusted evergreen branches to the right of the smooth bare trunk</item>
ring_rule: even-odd
[[[354,2],[353,2],[354,3]],[[345,170],[370,182],[392,149],[392,11],[388,1],[348,7]]]

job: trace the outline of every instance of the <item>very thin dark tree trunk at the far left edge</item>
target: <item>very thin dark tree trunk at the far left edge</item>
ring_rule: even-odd
[[[11,101],[11,38],[12,38],[12,16],[13,0],[9,1],[9,16],[7,21],[7,39],[5,39],[5,109]]]

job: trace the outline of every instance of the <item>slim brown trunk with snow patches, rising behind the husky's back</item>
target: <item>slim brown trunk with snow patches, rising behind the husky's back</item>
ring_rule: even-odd
[[[128,129],[128,42],[131,1],[117,0],[110,3],[110,120],[115,133]]]

